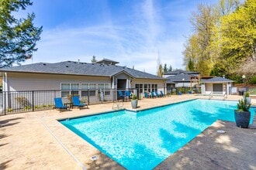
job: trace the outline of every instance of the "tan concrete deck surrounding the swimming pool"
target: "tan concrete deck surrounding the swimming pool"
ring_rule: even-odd
[[[142,99],[138,109],[194,98],[208,99],[195,95]],[[240,98],[229,96],[227,100]],[[124,169],[57,121],[111,111],[112,105],[0,116],[0,169]],[[131,109],[130,102],[124,102],[123,107]],[[232,122],[216,121],[156,169],[256,169],[255,125],[256,120],[251,128],[242,129]],[[216,133],[220,129],[226,133]],[[96,161],[90,159],[93,155],[97,155]]]

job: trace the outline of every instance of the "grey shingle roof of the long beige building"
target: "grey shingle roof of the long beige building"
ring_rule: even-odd
[[[81,63],[64,61],[60,63],[33,63],[22,66],[12,66],[0,69],[4,72],[22,73],[53,73],[82,76],[115,76],[119,73],[127,73],[134,78],[165,80],[160,76],[133,70],[126,66],[115,66],[100,63]]]

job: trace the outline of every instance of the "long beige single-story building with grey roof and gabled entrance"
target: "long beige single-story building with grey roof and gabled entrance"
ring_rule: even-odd
[[[94,97],[98,100],[99,90],[103,91],[105,100],[116,99],[113,90],[136,88],[138,96],[144,91],[166,91],[164,78],[116,63],[102,59],[97,63],[64,61],[6,67],[0,69],[3,91],[62,90],[61,97],[74,93],[81,97],[89,95],[91,102]]]

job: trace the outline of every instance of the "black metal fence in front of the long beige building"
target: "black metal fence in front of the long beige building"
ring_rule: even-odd
[[[123,93],[126,90],[120,89]],[[128,91],[136,93],[140,98],[138,90],[128,89]],[[61,97],[65,104],[71,102],[72,95],[79,95],[81,102],[88,105],[109,103],[120,99],[116,89],[2,91],[0,92],[0,114],[53,109],[54,98]]]

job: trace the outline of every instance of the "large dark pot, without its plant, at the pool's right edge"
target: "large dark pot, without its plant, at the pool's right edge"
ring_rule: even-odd
[[[250,123],[250,118],[251,118],[250,111],[234,110],[234,116],[235,116],[237,127],[248,128]]]

